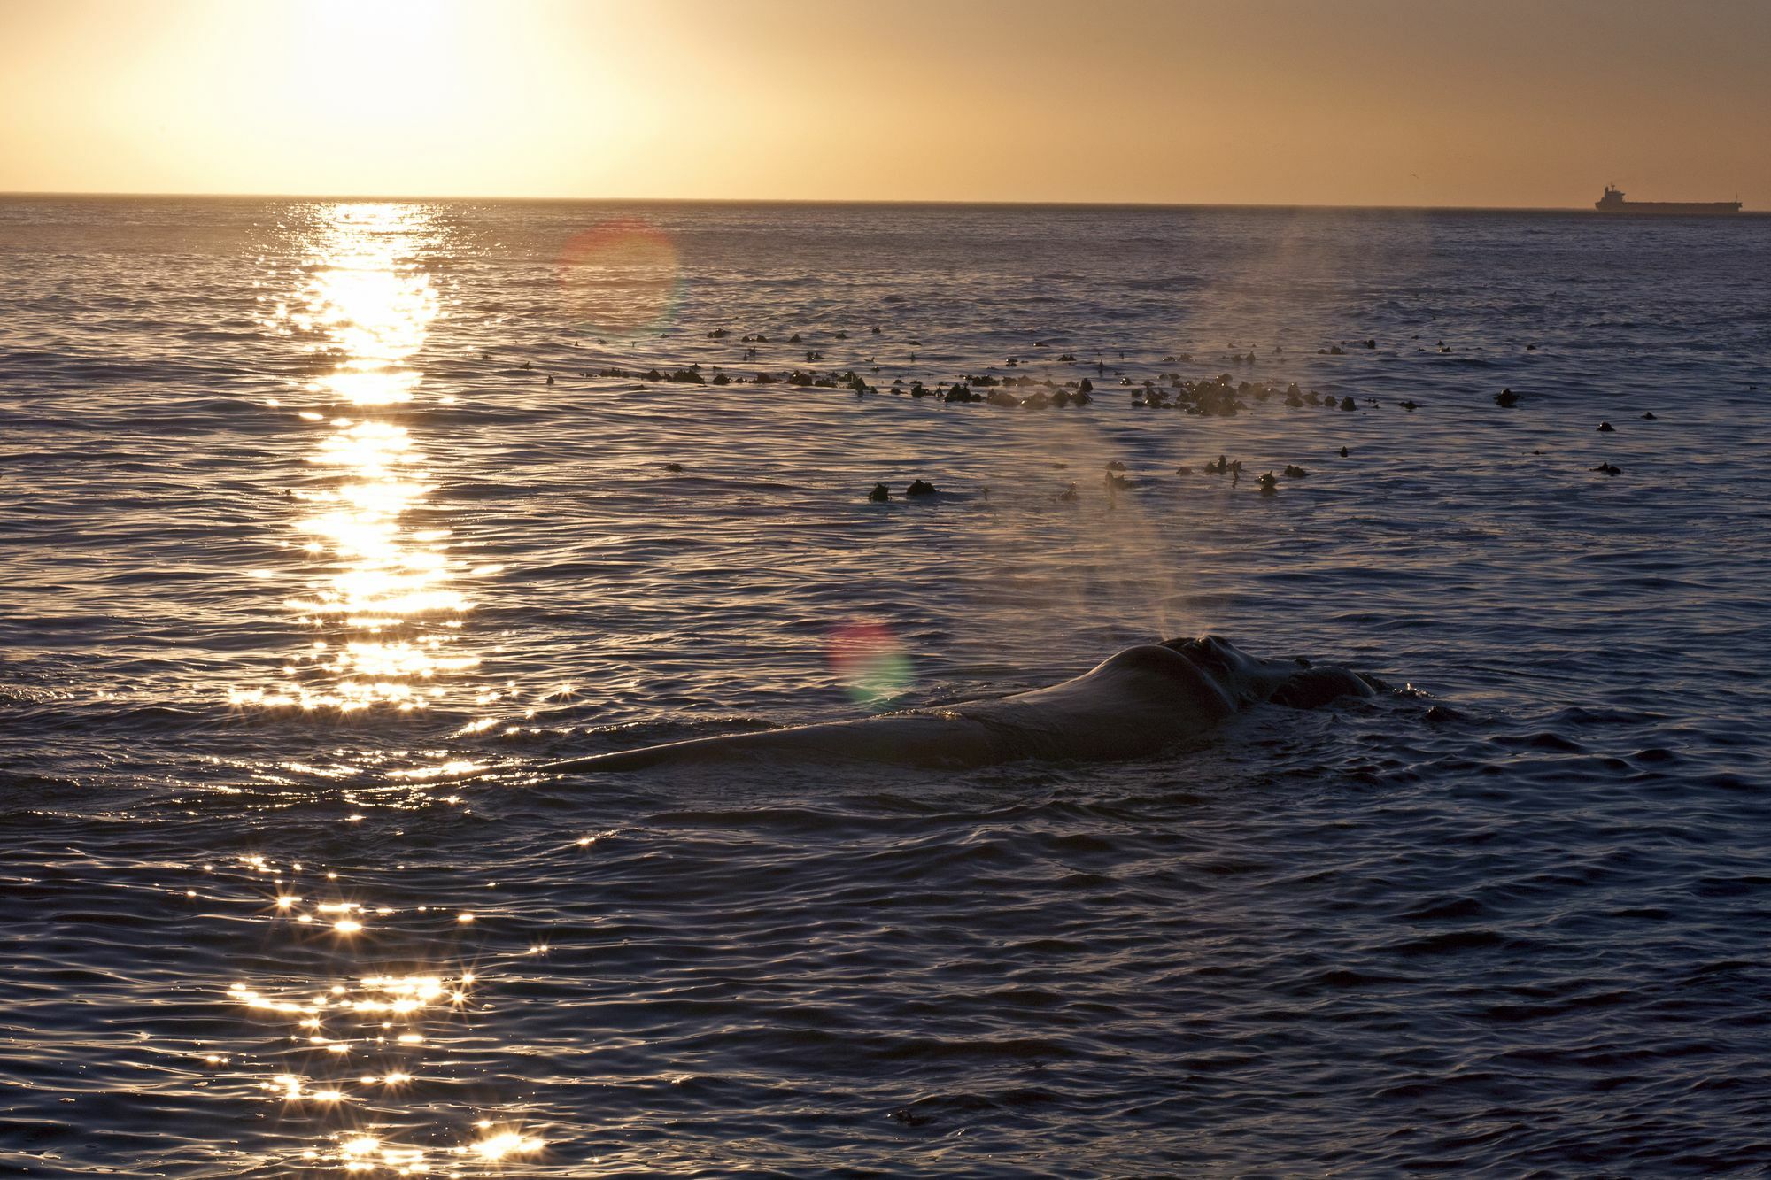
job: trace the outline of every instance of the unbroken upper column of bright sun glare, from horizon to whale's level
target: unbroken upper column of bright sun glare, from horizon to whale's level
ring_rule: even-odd
[[[333,358],[306,386],[329,432],[310,464],[322,478],[290,491],[303,516],[299,553],[310,563],[301,592],[285,599],[315,638],[283,664],[273,687],[241,687],[234,703],[358,710],[423,709],[443,695],[439,677],[478,659],[450,654],[471,602],[452,585],[446,528],[416,528],[434,491],[411,431],[386,415],[416,395],[413,358],[441,312],[432,276],[414,260],[437,230],[420,206],[317,207],[305,250],[312,278],[301,310],[278,303],[289,330],[313,335]],[[365,413],[367,411],[367,413]],[[358,416],[363,413],[363,416]]]

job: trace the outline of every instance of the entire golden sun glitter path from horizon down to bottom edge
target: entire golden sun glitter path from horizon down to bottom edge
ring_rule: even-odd
[[[306,457],[315,475],[287,493],[296,537],[285,546],[301,562],[287,574],[248,576],[260,585],[287,578],[292,588],[282,604],[312,638],[283,659],[275,684],[236,687],[230,700],[338,712],[425,709],[445,695],[446,680],[478,664],[459,650],[473,602],[455,585],[452,530],[421,519],[436,484],[407,425],[423,384],[414,358],[441,314],[432,276],[416,259],[436,246],[439,230],[421,206],[333,204],[310,214],[296,227],[306,285],[275,303],[264,326],[306,337],[308,351],[331,365],[301,388],[308,406],[301,420],[324,434]],[[429,778],[464,765],[471,764],[406,774]],[[352,813],[345,822],[361,819]],[[282,1118],[312,1122],[299,1161],[283,1162],[303,1173],[468,1175],[508,1171],[544,1148],[521,1127],[473,1118],[478,1111],[471,1125],[460,1113],[430,1113],[434,1095],[425,1090],[436,1068],[421,1054],[429,1035],[452,1031],[480,1008],[478,976],[466,964],[441,962],[390,971],[388,955],[398,962],[400,923],[466,928],[471,914],[429,905],[402,912],[342,897],[336,872],[301,888],[299,865],[287,875],[262,856],[241,865],[273,879],[262,916],[280,934],[301,944],[321,939],[312,943],[312,974],[227,989],[227,1003],[251,1015],[260,1044],[204,1058],[221,1067],[257,1051],[264,1067],[251,1074],[251,1091],[275,1102]],[[375,973],[336,978],[338,955],[368,953]],[[436,1125],[420,1129],[414,1118]]]

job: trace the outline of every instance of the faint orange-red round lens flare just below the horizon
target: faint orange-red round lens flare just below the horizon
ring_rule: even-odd
[[[677,243],[646,221],[604,221],[560,252],[560,296],[590,331],[638,337],[657,330],[682,296]]]

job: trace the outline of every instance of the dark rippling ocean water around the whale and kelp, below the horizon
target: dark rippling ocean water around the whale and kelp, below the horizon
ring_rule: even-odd
[[[0,1171],[1771,1168],[1771,221],[7,198],[0,275]],[[1397,691],[540,769],[1199,633]]]

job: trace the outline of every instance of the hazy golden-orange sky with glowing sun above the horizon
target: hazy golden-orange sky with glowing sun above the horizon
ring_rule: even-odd
[[[1771,209],[1771,0],[0,0],[0,191]]]

